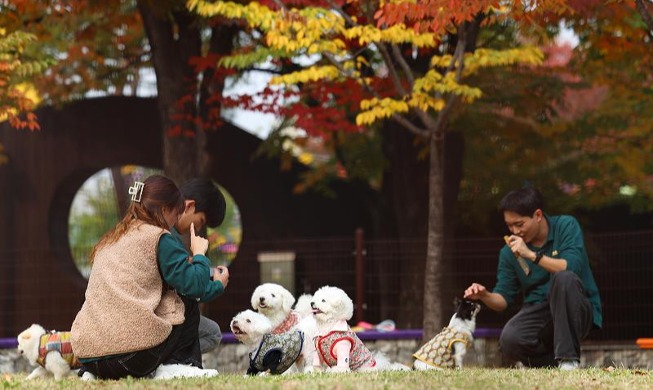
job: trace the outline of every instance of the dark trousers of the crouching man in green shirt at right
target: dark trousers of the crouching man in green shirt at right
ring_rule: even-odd
[[[526,304],[503,327],[499,348],[504,358],[530,367],[580,360],[580,341],[592,329],[592,304],[583,283],[571,271],[553,274],[544,303]]]

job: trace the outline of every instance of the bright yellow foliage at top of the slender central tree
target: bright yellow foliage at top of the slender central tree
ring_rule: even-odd
[[[356,8],[355,3],[358,2],[347,5]],[[459,10],[460,14],[455,14],[452,18],[454,23],[450,20],[445,23],[446,27],[455,28],[458,19],[471,19],[479,10],[490,12],[491,2],[477,3],[470,9]],[[462,80],[483,68],[516,63],[534,65],[542,61],[539,50],[528,46],[509,50],[485,49],[464,55],[458,53],[458,57],[443,53],[432,56],[426,72],[415,74],[406,58],[412,50],[437,53],[439,46],[451,45],[444,35],[439,35],[446,32],[438,30],[440,24],[435,23],[430,27],[437,30],[435,33],[432,30],[420,32],[417,31],[419,25],[406,26],[402,15],[396,15],[385,8],[376,11],[377,16],[384,16],[374,20],[366,18],[363,9],[345,9],[342,5],[338,6],[337,2],[329,4],[328,8],[283,7],[275,10],[255,2],[246,5],[199,0],[188,2],[188,6],[202,16],[244,19],[250,28],[262,34],[256,47],[244,48],[244,54],[225,58],[222,62],[224,65],[243,69],[258,65],[272,55],[276,59],[316,56],[318,58],[313,61],[309,59],[310,65],[274,77],[271,85],[283,85],[284,90],[299,91],[299,86],[303,88],[306,83],[354,80],[358,89],[365,94],[360,96],[356,116],[356,124],[359,126],[393,118],[400,120],[402,125],[412,131],[426,136],[429,124],[416,126],[403,116],[416,114],[428,122],[424,114],[444,109],[443,97],[446,96],[456,96],[467,103],[473,102],[481,96],[481,91],[466,85]],[[413,7],[426,11],[431,5],[413,4],[409,8]],[[358,14],[353,14],[352,11]],[[404,17],[412,17],[412,13]],[[401,48],[400,45],[407,47]],[[371,73],[365,74],[366,71]],[[384,72],[387,72],[385,76]],[[389,86],[389,82],[394,85]],[[320,127],[321,123],[314,123],[305,130],[314,132],[314,129]]]

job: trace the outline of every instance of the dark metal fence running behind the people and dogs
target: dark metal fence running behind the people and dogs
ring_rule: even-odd
[[[603,303],[604,327],[593,332],[590,339],[625,340],[653,336],[653,231],[628,233],[587,234],[586,244],[592,269]],[[472,282],[494,286],[498,250],[502,239],[462,238],[446,243],[443,281],[443,307]],[[244,241],[241,252],[230,266],[228,298],[219,298],[208,306],[209,316],[227,329],[231,317],[249,307],[253,288],[261,281],[274,281],[279,272],[293,275],[294,293],[314,292],[325,284],[337,285],[356,298],[358,321],[378,323],[393,319],[399,327],[421,327],[423,307],[421,294],[425,240],[365,240],[357,243],[354,236],[337,239],[283,240],[269,242]],[[26,250],[29,251],[29,250]],[[292,267],[269,271],[256,258],[265,252],[292,252]],[[24,253],[23,253],[24,254]],[[362,256],[360,256],[362,254]],[[12,264],[12,253],[0,253],[4,264]],[[74,265],[52,272],[47,285],[34,286],[31,276],[39,270],[39,258],[44,254],[31,253],[33,264],[23,261],[12,269],[0,270],[0,338],[15,337],[15,318],[39,319],[56,316],[70,306],[78,310],[83,302],[83,278],[76,289],[66,288],[68,276],[76,271]],[[23,258],[25,258],[23,256]],[[361,263],[362,262],[362,263]],[[362,266],[362,267],[361,267]],[[279,271],[281,270],[281,271]],[[275,274],[276,272],[276,274]],[[361,274],[362,273],[362,274]],[[357,277],[358,275],[358,277]],[[79,276],[79,275],[78,275]],[[285,275],[288,277],[289,275]],[[81,282],[80,282],[81,280]],[[81,283],[81,284],[80,284]],[[57,290],[59,289],[59,290]],[[46,291],[38,299],[30,294]],[[49,294],[48,291],[61,291]],[[73,292],[74,291],[74,292]],[[64,310],[65,311],[65,310]],[[74,317],[68,310],[67,316]],[[479,327],[500,328],[509,318],[508,313],[481,311]],[[445,316],[450,314],[445,312]],[[67,317],[67,318],[68,318]],[[27,320],[24,320],[25,322]],[[68,321],[68,320],[67,320]],[[355,323],[354,323],[355,324]],[[27,324],[29,326],[29,324]]]

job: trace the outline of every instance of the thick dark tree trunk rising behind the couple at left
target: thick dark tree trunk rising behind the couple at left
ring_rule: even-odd
[[[159,117],[163,132],[163,170],[178,185],[202,175],[203,137],[197,136],[197,76],[189,59],[201,55],[196,18],[185,7],[164,10],[138,2],[156,72]]]

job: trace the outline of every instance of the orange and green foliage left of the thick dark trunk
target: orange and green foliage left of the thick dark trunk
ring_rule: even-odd
[[[61,105],[89,93],[134,95],[140,69],[150,66],[135,1],[14,0],[1,15],[8,29],[37,38],[27,53],[57,58],[34,78],[45,104]]]

